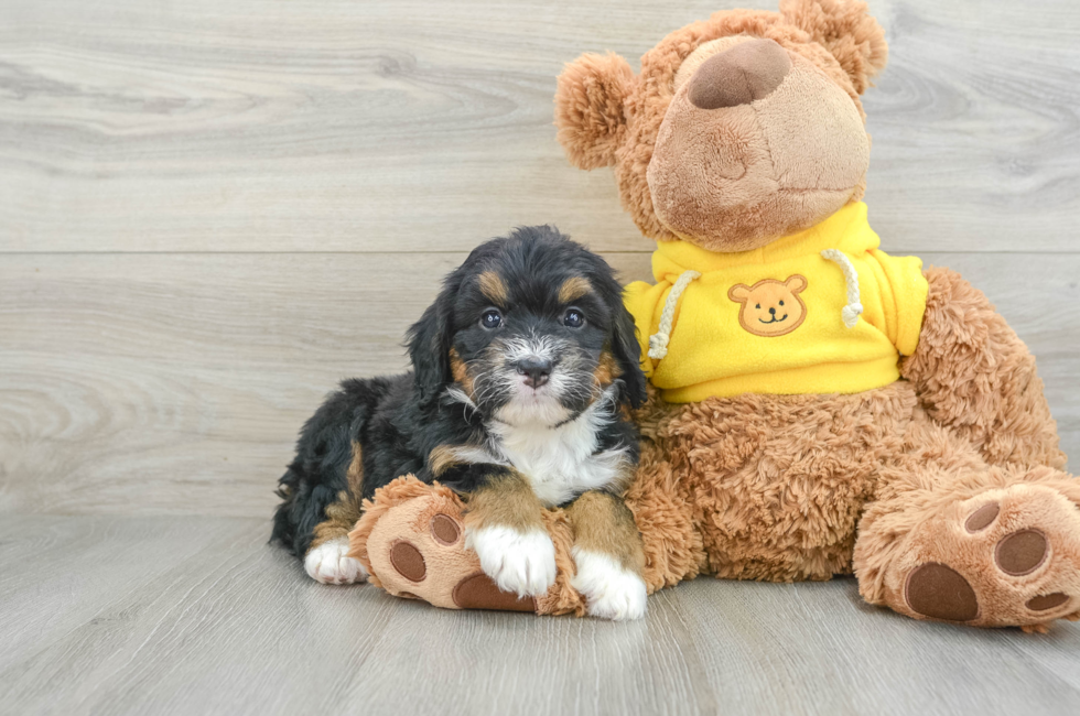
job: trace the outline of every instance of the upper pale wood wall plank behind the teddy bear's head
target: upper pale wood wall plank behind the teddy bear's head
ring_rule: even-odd
[[[774,10],[771,1],[745,4]],[[466,250],[555,223],[648,250],[551,100],[719,0],[8,0],[0,251]],[[867,200],[906,251],[1062,251],[1080,215],[1080,6],[872,0]]]

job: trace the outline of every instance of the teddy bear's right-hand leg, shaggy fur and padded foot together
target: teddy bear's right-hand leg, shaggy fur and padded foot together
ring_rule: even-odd
[[[858,525],[860,593],[916,619],[1041,630],[1080,618],[1080,481],[986,465],[924,411]]]

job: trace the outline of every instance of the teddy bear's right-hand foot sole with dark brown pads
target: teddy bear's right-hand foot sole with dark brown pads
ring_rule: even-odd
[[[901,586],[911,616],[990,627],[1080,615],[1080,509],[1057,490],[987,490],[919,538]]]

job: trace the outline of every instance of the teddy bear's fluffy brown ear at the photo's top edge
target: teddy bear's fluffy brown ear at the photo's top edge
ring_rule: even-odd
[[[832,53],[860,95],[888,62],[885,31],[863,0],[780,0],[780,12]]]

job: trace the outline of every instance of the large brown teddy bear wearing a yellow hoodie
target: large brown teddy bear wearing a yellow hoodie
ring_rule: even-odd
[[[1080,482],[1035,359],[986,297],[878,248],[860,96],[886,57],[865,3],[781,0],[671,33],[639,75],[586,54],[559,78],[571,162],[612,166],[658,242],[656,284],[626,296],[654,387],[627,495],[646,582],[854,573],[917,619],[1041,630],[1080,618]],[[461,509],[401,478],[354,553],[393,594],[583,614],[559,510],[559,578],[532,601],[477,577]],[[400,539],[420,581],[387,557]]]

